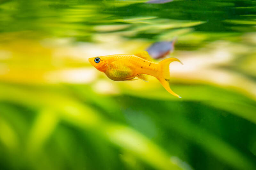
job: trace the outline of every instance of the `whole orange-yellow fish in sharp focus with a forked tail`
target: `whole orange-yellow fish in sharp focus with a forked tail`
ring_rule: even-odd
[[[89,58],[89,62],[111,80],[124,81],[140,78],[147,81],[146,74],[151,75],[157,78],[169,93],[181,98],[169,86],[169,65],[173,61],[180,62],[177,58],[166,58],[159,63],[154,63],[147,51],[134,55],[117,54]]]

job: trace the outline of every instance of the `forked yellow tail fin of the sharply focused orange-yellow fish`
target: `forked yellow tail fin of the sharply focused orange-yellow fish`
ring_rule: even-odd
[[[166,58],[163,61],[159,62],[160,64],[160,72],[159,75],[157,77],[157,79],[160,81],[160,83],[164,86],[164,88],[171,93],[172,95],[181,98],[178,94],[176,94],[175,92],[173,92],[170,88],[169,85],[169,80],[170,80],[170,69],[169,69],[169,65],[170,63],[172,63],[173,61],[178,61],[180,62],[179,59],[177,58]],[[180,62],[181,63],[181,62]],[[181,63],[182,64],[182,63]]]

